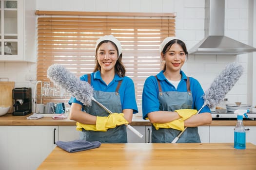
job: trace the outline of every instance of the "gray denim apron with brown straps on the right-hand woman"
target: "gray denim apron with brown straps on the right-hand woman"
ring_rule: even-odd
[[[156,76],[155,76],[156,77]],[[156,77],[157,78],[157,77]],[[158,80],[158,79],[157,79]],[[191,109],[192,108],[192,93],[190,90],[189,77],[187,80],[187,92],[167,91],[163,92],[158,80],[159,94],[158,100],[160,102],[159,109],[163,111],[175,111],[177,109]],[[179,134],[179,130],[159,128],[156,130],[152,125],[152,143],[171,143],[173,139]],[[179,137],[177,143],[200,143],[200,137],[197,127],[189,127]]]

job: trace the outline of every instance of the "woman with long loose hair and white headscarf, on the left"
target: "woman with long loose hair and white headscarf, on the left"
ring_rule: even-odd
[[[135,98],[135,87],[131,78],[125,76],[125,68],[122,64],[122,48],[120,42],[113,35],[106,35],[97,40],[96,66],[91,74],[80,77],[81,81],[87,81],[94,88],[94,98],[114,113],[122,113],[127,123],[132,121],[133,113],[138,113]],[[96,125],[105,123],[109,126],[109,113],[96,102],[91,106],[84,106],[76,98],[72,97],[70,119],[79,122],[79,125]],[[121,115],[122,115],[121,114]],[[112,114],[113,115],[113,114]],[[120,116],[120,115],[118,115]],[[116,119],[111,118],[110,125],[115,128],[106,128],[106,131],[85,130],[80,132],[80,139],[87,141],[100,141],[101,143],[127,143],[127,132],[124,124],[115,124]],[[99,123],[98,123],[99,122]],[[108,125],[107,125],[108,124]],[[78,125],[78,123],[77,123]]]

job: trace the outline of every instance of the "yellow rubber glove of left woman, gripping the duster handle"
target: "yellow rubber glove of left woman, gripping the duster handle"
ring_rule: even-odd
[[[124,119],[123,113],[113,113],[108,117],[97,117],[96,129],[97,131],[106,132],[108,129],[115,128],[122,124],[128,124],[129,122]]]

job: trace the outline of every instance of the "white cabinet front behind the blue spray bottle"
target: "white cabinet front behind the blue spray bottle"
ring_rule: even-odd
[[[235,126],[211,126],[210,142],[211,143],[233,143]],[[256,145],[256,126],[245,126],[246,142]]]

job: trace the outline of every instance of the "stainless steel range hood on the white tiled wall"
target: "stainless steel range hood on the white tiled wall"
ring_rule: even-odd
[[[237,55],[256,48],[224,36],[225,0],[205,0],[205,34],[189,54]]]

